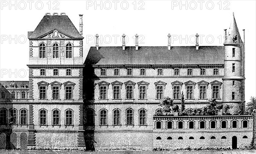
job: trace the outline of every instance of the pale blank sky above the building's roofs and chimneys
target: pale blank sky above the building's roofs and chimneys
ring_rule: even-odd
[[[20,0],[0,1],[0,81],[29,80],[29,40],[49,12],[65,12],[79,30],[79,14],[83,15],[84,60],[90,46],[223,46],[224,29],[235,14],[241,38],[245,29],[245,100],[256,96],[256,1],[255,0]]]

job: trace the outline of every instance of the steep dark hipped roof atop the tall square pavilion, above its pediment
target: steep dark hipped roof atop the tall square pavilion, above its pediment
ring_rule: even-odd
[[[28,37],[38,38],[54,29],[74,38],[83,38],[67,15],[45,15],[35,31],[28,32]]]

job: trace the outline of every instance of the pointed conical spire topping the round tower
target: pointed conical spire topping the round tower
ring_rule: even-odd
[[[225,40],[224,45],[238,46],[243,43],[241,40],[241,36],[239,34],[239,30],[236,25],[236,19],[235,19],[234,12],[233,12],[233,19],[231,21],[230,28],[229,28],[226,38],[227,39]]]

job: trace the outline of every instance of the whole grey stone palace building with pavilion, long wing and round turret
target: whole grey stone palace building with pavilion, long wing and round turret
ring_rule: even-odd
[[[91,47],[65,13],[29,38],[29,81],[0,82],[0,148],[153,150],[250,144],[250,115],[157,115],[164,97],[186,110],[214,98],[244,111],[244,42],[233,17],[224,46]],[[16,113],[16,114],[15,114]],[[16,121],[14,120],[16,117]],[[15,121],[15,122],[14,122]]]

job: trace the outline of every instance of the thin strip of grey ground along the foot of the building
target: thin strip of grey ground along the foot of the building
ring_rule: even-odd
[[[256,154],[256,150],[229,151],[7,151],[0,150],[0,154]]]

